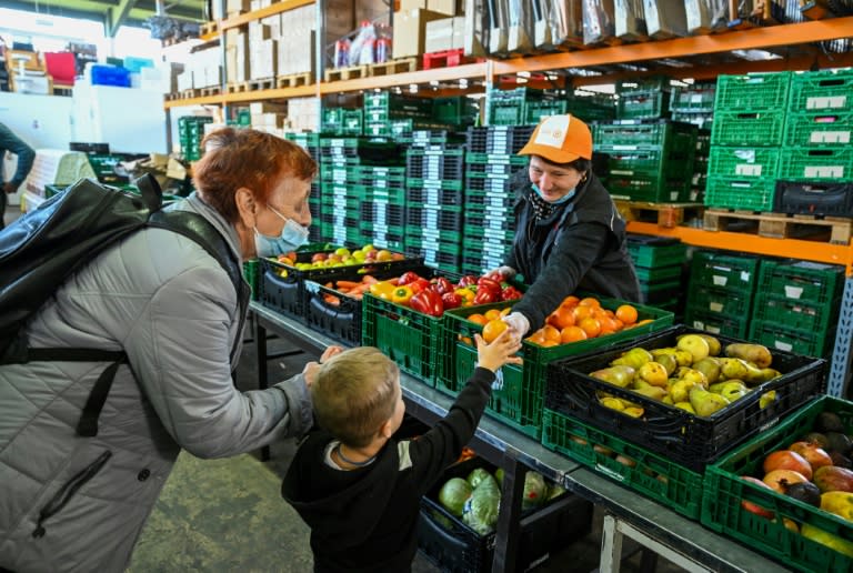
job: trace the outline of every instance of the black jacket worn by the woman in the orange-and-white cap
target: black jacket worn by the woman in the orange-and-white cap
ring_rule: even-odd
[[[528,170],[512,180],[515,240],[505,260],[531,286],[514,310],[540,329],[575,290],[640,302],[640,282],[625,247],[625,222],[594,173],[542,221],[533,217]]]

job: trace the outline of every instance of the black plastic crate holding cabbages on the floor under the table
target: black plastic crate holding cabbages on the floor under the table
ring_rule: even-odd
[[[464,480],[474,468],[494,472],[494,466],[480,458],[453,464],[421,500],[418,545],[424,556],[444,572],[492,571],[495,534],[480,535],[436,501],[446,480]],[[569,492],[540,509],[524,512],[519,527],[518,570],[526,571],[546,560],[550,553],[586,536],[592,527],[592,512],[591,502]]]

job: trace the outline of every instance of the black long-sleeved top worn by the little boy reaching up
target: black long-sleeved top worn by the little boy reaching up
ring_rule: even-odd
[[[334,439],[309,434],[281,494],[311,527],[315,572],[411,570],[421,497],[471,441],[493,380],[478,368],[443,420],[417,440],[390,440],[367,468],[330,468],[325,449]]]

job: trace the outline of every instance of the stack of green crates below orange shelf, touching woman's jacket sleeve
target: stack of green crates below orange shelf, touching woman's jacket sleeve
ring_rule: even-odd
[[[681,315],[679,302],[688,247],[678,239],[631,234],[628,252],[640,279],[643,303]]]

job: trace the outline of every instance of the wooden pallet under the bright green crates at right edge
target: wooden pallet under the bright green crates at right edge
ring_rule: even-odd
[[[755,213],[752,211],[732,211],[708,209],[703,218],[706,231],[736,230],[756,232],[761,237],[774,239],[794,239],[807,237],[835,244],[850,244],[853,235],[853,219],[836,217]],[[737,229],[734,229],[737,227]]]

